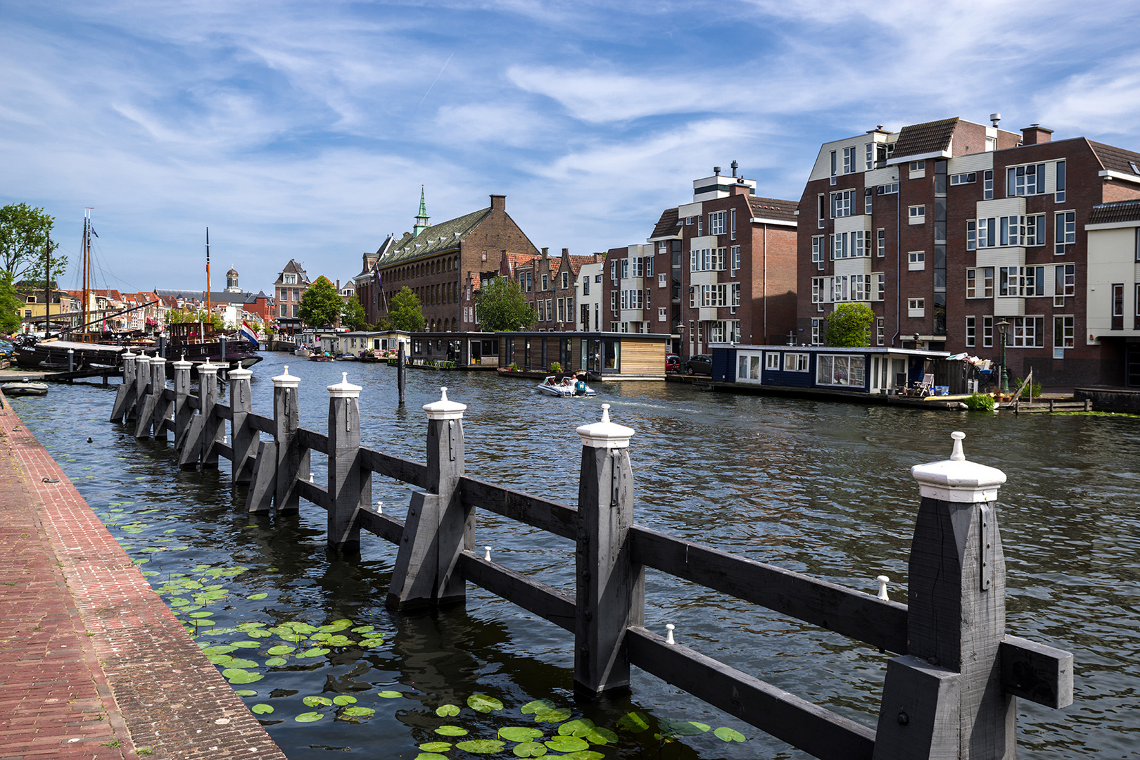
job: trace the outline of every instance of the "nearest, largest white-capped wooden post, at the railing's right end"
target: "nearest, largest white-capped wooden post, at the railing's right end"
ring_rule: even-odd
[[[874,760],[1016,757],[1017,710],[1002,692],[1005,559],[1000,469],[950,459],[911,468],[922,497],[911,542],[907,654],[887,663]]]

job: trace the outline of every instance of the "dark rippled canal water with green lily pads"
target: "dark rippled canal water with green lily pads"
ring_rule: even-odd
[[[951,431],[964,431],[967,457],[1009,479],[999,493],[1008,629],[1076,656],[1073,706],[1019,703],[1021,755],[1135,753],[1140,419],[936,412],[671,383],[604,384],[595,399],[553,399],[526,381],[426,370],[408,371],[400,407],[394,368],[266,357],[253,368],[254,411],[271,415],[270,378],[290,365],[301,378],[301,423],[323,432],[325,386],[347,370],[364,389],[364,446],[421,461],[422,406],[447,384],[448,398],[467,404],[470,475],[568,504],[578,488],[575,428],[610,403],[612,419],[636,431],[636,522],[869,594],[887,574],[899,600],[919,502],[910,467],[947,458]],[[324,512],[304,501],[298,517],[251,518],[227,461],[180,471],[168,444],[136,441],[106,422],[113,399],[113,385],[75,384],[11,403],[292,760],[342,751],[426,760],[543,750],[806,757],[643,672],[626,697],[576,700],[572,636],[478,588],[462,608],[389,612],[392,545],[365,534],[359,558],[329,557]],[[324,457],[312,459],[324,483]],[[406,484],[377,476],[373,495],[402,518]],[[497,562],[572,593],[570,541],[487,513],[477,537]],[[888,655],[652,571],[645,619],[874,726]],[[523,729],[544,736],[516,745]],[[555,738],[560,729],[565,736]]]

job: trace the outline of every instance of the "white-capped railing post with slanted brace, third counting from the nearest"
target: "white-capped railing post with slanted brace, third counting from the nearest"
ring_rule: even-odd
[[[466,471],[463,412],[466,404],[440,400],[424,404],[427,415],[427,491],[412,495],[404,539],[392,569],[388,606],[394,610],[430,604],[455,604],[466,597],[457,573],[464,549],[475,547],[474,510],[459,499],[459,479]]]

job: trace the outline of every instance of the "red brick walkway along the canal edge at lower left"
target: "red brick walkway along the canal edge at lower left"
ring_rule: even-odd
[[[284,760],[0,404],[0,759]]]

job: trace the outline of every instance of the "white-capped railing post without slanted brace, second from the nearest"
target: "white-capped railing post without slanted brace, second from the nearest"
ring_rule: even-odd
[[[578,481],[576,688],[588,694],[629,686],[626,630],[642,626],[645,569],[630,555],[634,474],[629,465],[633,428],[602,420],[578,428],[581,475]]]

